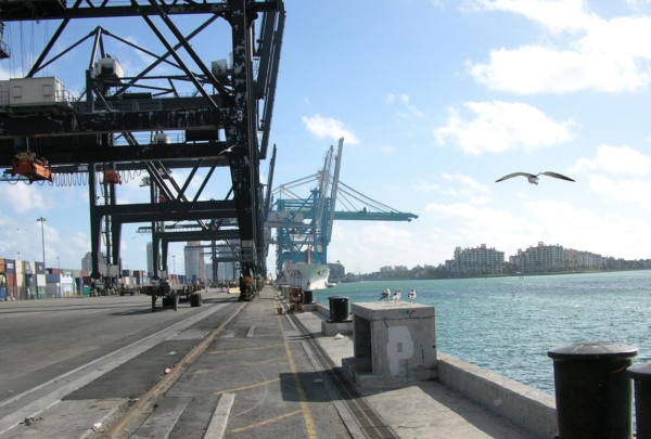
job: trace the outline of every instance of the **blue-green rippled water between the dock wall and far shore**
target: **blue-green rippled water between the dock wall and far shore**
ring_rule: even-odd
[[[651,271],[349,283],[315,299],[373,301],[386,288],[403,299],[416,288],[417,302],[436,308],[441,351],[550,395],[553,346],[620,343],[639,348],[636,363],[651,361]]]

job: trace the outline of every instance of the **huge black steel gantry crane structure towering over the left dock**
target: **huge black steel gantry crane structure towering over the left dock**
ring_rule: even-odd
[[[191,31],[182,21],[189,15],[199,25]],[[120,21],[127,17],[151,31],[159,42],[157,49],[145,49],[107,28],[115,23],[125,29]],[[88,18],[102,18],[102,26]],[[168,243],[180,241],[237,243],[241,274],[266,275],[259,163],[266,159],[269,143],[283,1],[2,2],[0,63],[11,56],[3,40],[5,26],[42,21],[58,27],[27,74],[0,80],[3,179],[88,184],[93,279],[118,275],[125,223],[151,224],[154,279],[166,274]],[[72,22],[77,31],[88,26],[88,33],[61,49]],[[230,27],[230,60],[215,60],[217,53],[205,60],[193,49],[215,47],[219,34],[208,29],[217,25]],[[117,47],[137,52],[149,65],[125,75],[118,59],[107,53]],[[78,66],[85,83],[79,95],[71,94],[56,78],[43,76],[48,66],[65,63],[67,54],[84,48],[89,62]],[[174,170],[183,168],[189,176],[180,180],[177,175],[187,172]],[[210,178],[226,168],[227,196],[202,199]],[[146,177],[149,203],[118,203],[118,186],[129,172]],[[193,180],[201,183],[191,193]],[[170,221],[175,227],[166,224]]]

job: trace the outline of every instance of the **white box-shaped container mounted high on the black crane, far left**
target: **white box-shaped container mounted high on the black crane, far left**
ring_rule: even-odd
[[[14,105],[54,104],[65,100],[63,82],[53,76],[46,78],[12,78],[9,103]]]

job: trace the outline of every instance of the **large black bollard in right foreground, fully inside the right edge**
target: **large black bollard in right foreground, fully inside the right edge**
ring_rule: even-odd
[[[576,343],[547,354],[553,360],[559,439],[633,437],[633,382],[626,369],[637,348]]]

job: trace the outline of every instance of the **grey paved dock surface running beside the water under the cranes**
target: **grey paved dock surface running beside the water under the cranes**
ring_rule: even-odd
[[[179,312],[151,313],[138,296],[71,304],[7,310],[8,324],[22,323],[21,334],[28,321],[18,318],[28,313],[38,321],[48,315],[51,328],[71,326],[64,319],[74,315],[75,324],[105,332],[79,339],[74,350],[52,338],[51,352],[39,347],[34,354],[69,359],[28,374],[37,359],[4,343],[15,358],[4,387],[16,397],[0,403],[0,439],[550,439],[556,432],[553,397],[442,352],[436,380],[358,387],[342,367],[354,356],[353,335],[343,326],[335,327],[340,336],[323,335],[327,309],[288,313],[270,286],[250,302],[209,290],[202,308]]]

